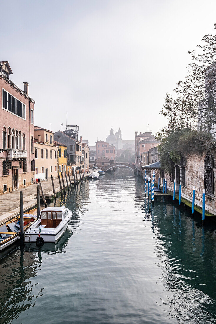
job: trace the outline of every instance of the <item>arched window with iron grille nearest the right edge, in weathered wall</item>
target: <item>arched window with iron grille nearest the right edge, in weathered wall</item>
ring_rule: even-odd
[[[215,177],[214,169],[215,161],[212,154],[208,154],[204,160],[204,182],[206,194],[210,197],[214,197]]]

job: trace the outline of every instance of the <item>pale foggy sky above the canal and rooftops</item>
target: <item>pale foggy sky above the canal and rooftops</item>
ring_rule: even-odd
[[[164,127],[159,111],[187,73],[187,51],[215,33],[216,1],[0,3],[0,61],[18,87],[29,82],[34,124],[55,132],[68,113],[90,145],[111,126],[123,139]]]

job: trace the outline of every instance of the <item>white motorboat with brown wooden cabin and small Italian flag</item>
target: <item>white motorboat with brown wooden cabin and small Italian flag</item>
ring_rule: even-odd
[[[39,219],[25,232],[25,242],[56,242],[66,231],[72,211],[63,207],[47,207]]]

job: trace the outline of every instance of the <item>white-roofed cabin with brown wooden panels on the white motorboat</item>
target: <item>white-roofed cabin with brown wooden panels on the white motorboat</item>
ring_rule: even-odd
[[[55,228],[64,220],[67,214],[67,208],[45,208],[41,212],[41,227]]]

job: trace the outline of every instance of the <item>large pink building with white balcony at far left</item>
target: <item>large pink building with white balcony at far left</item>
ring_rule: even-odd
[[[0,62],[0,194],[34,183],[34,103],[10,79],[7,61]]]

